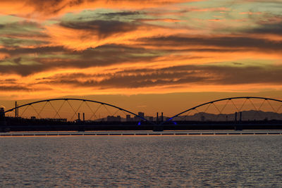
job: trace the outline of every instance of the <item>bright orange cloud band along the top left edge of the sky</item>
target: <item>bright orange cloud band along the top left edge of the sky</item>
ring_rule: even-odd
[[[198,0],[189,0],[198,1]],[[62,15],[68,12],[80,11],[83,9],[92,8],[151,8],[167,4],[177,4],[187,2],[187,0],[154,0],[154,1],[131,1],[131,0],[98,0],[98,1],[73,1],[73,0],[59,0],[59,1],[37,1],[37,0],[14,0],[1,1],[0,13],[13,14],[33,19],[50,18],[54,15]]]

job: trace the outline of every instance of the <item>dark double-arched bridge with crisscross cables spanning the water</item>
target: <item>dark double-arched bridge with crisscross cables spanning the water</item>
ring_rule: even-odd
[[[18,105],[4,111],[6,119],[54,125],[140,125],[157,130],[163,127],[200,127],[209,125],[281,124],[282,101],[258,96],[240,96],[217,99],[187,108],[171,117],[149,116],[144,112],[133,113],[125,108],[88,99],[46,99]],[[7,120],[7,121],[8,121]],[[11,123],[10,123],[11,124]],[[147,129],[145,128],[145,129]],[[149,128],[149,129],[150,129]],[[127,129],[125,127],[125,129]]]

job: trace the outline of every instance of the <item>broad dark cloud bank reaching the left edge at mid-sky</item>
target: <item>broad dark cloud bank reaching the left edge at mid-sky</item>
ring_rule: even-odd
[[[61,46],[33,49],[0,49],[0,51],[13,56],[20,55],[18,58],[13,58],[12,56],[12,58],[0,61],[0,73],[17,73],[23,76],[55,68],[90,68],[119,63],[149,62],[161,56],[161,51],[118,45],[99,46],[95,49],[86,49],[84,51],[71,51],[63,49]],[[36,63],[29,65],[25,63],[27,60],[24,57],[29,54],[38,54],[37,57],[31,59]],[[1,63],[5,62],[11,62],[12,64],[20,62],[21,64],[1,65]]]

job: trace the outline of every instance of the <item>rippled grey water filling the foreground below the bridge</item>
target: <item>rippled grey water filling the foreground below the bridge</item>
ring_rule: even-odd
[[[0,137],[0,187],[281,187],[282,136]]]

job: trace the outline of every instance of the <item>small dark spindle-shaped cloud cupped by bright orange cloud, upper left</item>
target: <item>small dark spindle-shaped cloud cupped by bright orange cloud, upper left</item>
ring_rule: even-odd
[[[121,22],[118,20],[92,20],[88,22],[62,22],[62,27],[68,27],[74,30],[85,30],[90,35],[98,35],[99,38],[109,37],[111,35],[123,32],[137,30],[136,23]]]

